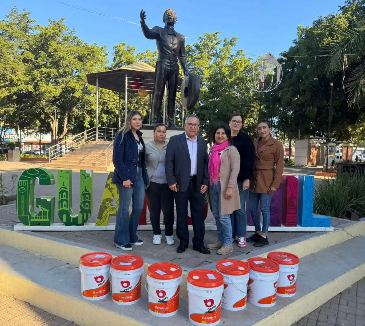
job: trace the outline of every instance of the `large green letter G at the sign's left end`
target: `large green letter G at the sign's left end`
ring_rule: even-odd
[[[45,168],[30,168],[19,177],[16,189],[16,213],[24,225],[51,225],[54,223],[54,197],[41,196],[35,199],[39,207],[34,210],[34,182],[38,179],[40,186],[54,185],[53,173]]]

